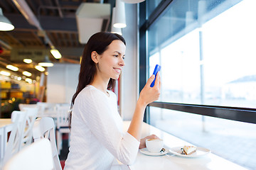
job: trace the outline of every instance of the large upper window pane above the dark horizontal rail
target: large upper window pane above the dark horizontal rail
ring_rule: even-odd
[[[148,30],[149,59],[159,54],[150,68],[162,66],[159,101],[256,108],[255,6],[252,0],[171,3]]]

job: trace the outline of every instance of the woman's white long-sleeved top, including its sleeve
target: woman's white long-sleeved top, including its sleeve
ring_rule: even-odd
[[[111,169],[115,159],[123,164],[135,161],[139,141],[123,132],[117,96],[108,93],[88,85],[75,98],[65,170]]]

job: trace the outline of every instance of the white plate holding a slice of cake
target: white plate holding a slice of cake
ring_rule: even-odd
[[[210,149],[206,149],[204,147],[197,147],[195,153],[186,155],[186,154],[181,154],[181,148],[182,147],[173,147],[169,149],[169,152],[171,152],[172,154],[176,154],[179,157],[202,157],[210,153]]]

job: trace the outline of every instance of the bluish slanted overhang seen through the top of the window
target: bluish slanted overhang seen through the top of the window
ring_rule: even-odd
[[[200,28],[241,0],[174,0],[149,28],[149,53],[174,42],[189,31]],[[147,1],[147,11],[159,3]],[[151,14],[151,13],[150,13]],[[153,52],[154,53],[154,52]]]

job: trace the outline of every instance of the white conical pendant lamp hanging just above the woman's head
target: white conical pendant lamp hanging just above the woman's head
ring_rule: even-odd
[[[125,6],[124,2],[121,0],[116,0],[116,15],[114,18],[114,27],[115,28],[125,28],[127,27],[125,21]]]

